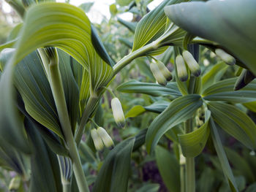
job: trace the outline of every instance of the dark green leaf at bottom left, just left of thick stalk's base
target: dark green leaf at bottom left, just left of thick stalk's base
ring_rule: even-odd
[[[61,175],[56,154],[45,145],[28,119],[25,119],[25,126],[32,147],[29,191],[61,191]]]

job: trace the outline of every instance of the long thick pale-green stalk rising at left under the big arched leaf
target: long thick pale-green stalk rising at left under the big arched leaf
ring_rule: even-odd
[[[73,170],[75,173],[75,178],[78,183],[78,188],[80,192],[89,192],[89,188],[86,182],[86,177],[83,173],[82,164],[80,162],[78,148],[75,144],[75,139],[72,134],[71,124],[69,122],[69,115],[67,111],[67,104],[64,96],[64,89],[61,82],[61,74],[59,71],[58,62],[50,62],[50,87],[53,92],[53,99],[56,104],[57,112],[59,115],[59,120],[61,122],[61,128],[69,147],[69,154],[72,158]]]

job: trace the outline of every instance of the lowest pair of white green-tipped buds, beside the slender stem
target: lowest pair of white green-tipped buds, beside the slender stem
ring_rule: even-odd
[[[113,140],[109,136],[105,128],[97,127],[91,129],[91,138],[94,141],[94,146],[96,150],[102,150],[104,145],[106,147],[111,147],[114,145]]]

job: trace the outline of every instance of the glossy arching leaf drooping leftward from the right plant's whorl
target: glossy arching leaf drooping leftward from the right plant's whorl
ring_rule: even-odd
[[[203,104],[199,95],[182,96],[173,100],[170,105],[153,120],[146,135],[148,153],[154,150],[157,142],[170,128],[192,118],[195,111]]]

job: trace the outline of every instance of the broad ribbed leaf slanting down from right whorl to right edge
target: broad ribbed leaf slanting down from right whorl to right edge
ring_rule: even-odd
[[[208,102],[208,109],[211,111],[214,121],[228,134],[249,149],[255,149],[256,126],[244,112],[233,105],[214,101]]]

